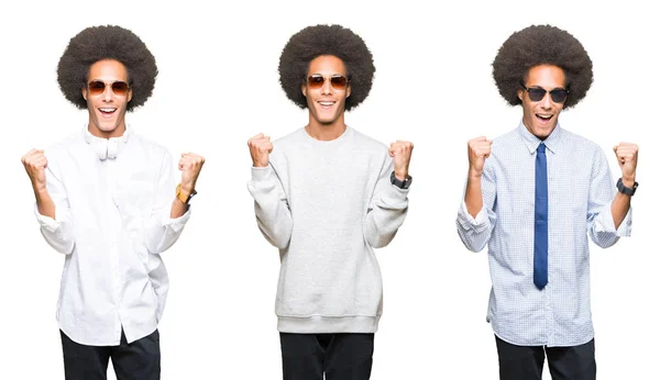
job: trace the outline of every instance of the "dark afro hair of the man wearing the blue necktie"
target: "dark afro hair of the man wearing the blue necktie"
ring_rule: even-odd
[[[564,109],[578,104],[593,82],[592,60],[580,41],[556,26],[531,25],[512,34],[493,62],[493,78],[510,105],[521,104],[518,90],[529,69],[539,65],[563,69],[570,91]]]

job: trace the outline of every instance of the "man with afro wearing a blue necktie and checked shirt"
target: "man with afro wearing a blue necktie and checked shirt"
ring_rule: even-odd
[[[501,379],[540,379],[546,356],[553,379],[595,379],[587,234],[603,248],[630,235],[638,147],[614,147],[615,187],[603,149],[559,125],[593,80],[588,55],[563,30],[514,33],[493,76],[504,99],[522,105],[522,120],[494,141],[468,142],[457,226],[468,249],[488,245],[487,321]]]

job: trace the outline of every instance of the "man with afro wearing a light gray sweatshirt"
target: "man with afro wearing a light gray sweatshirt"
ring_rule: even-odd
[[[309,26],[279,60],[287,97],[309,123],[248,145],[257,225],[279,248],[275,312],[284,379],[369,379],[382,313],[373,248],[404,223],[413,144],[389,148],[344,123],[369,94],[375,67],[364,41],[340,25]]]

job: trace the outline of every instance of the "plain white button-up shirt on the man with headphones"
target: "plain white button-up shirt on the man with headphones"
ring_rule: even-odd
[[[116,158],[105,157],[108,143],[85,127],[47,149],[55,220],[35,206],[44,238],[66,255],[59,328],[90,346],[119,345],[122,327],[129,343],[156,329],[168,289],[160,254],[190,217],[169,217],[174,163],[164,147],[130,128],[110,142]]]

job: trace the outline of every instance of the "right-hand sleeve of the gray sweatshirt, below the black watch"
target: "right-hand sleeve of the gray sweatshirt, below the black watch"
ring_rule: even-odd
[[[364,223],[364,237],[374,248],[385,247],[392,242],[408,212],[408,191],[400,189],[389,179],[394,161],[389,156],[383,161]]]

